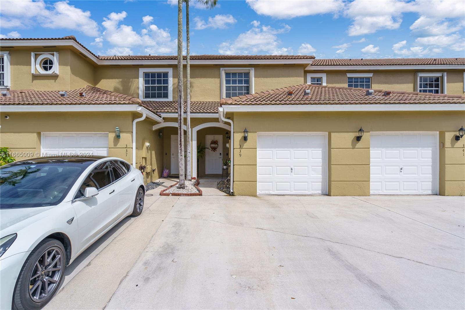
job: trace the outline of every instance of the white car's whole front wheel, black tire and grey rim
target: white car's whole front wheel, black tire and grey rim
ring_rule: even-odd
[[[65,272],[65,247],[44,239],[27,256],[13,295],[13,309],[40,309],[58,291]]]

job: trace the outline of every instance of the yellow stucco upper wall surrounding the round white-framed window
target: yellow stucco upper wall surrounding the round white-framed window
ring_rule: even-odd
[[[82,55],[66,47],[8,49],[11,89],[70,90],[94,85],[94,67]],[[58,75],[33,75],[31,53],[59,53]],[[35,55],[35,59],[40,54]],[[35,63],[34,63],[35,67]],[[36,73],[37,71],[34,70]]]

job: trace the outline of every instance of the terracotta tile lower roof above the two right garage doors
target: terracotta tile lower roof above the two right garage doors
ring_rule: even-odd
[[[304,95],[310,90],[310,95]],[[372,95],[366,95],[368,89],[330,87],[302,84],[274,89],[245,96],[226,98],[221,105],[293,105],[293,104],[424,104],[424,103],[465,103],[465,96],[428,94],[406,91],[386,91],[373,89]],[[292,95],[288,92],[292,91]],[[385,92],[391,92],[385,95]]]

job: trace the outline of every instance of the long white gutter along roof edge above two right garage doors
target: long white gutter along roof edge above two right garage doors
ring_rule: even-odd
[[[226,112],[465,111],[465,103],[223,105]]]

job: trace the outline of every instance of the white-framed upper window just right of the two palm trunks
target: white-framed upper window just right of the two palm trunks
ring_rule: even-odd
[[[221,98],[253,94],[253,68],[221,68]]]

